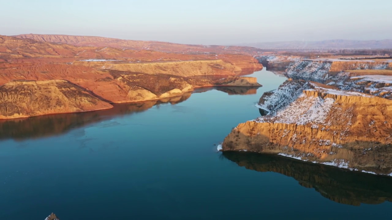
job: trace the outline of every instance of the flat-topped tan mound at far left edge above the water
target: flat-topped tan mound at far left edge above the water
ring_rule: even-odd
[[[112,107],[65,80],[13,81],[0,86],[0,119]]]

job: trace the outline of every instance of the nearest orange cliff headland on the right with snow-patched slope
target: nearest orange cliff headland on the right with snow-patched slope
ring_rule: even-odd
[[[392,101],[308,85],[310,89],[292,103],[270,105],[269,115],[239,124],[222,149],[280,153],[352,170],[392,173]]]

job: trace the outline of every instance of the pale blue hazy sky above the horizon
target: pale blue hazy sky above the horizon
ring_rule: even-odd
[[[392,38],[392,0],[1,0],[0,34],[231,45]]]

